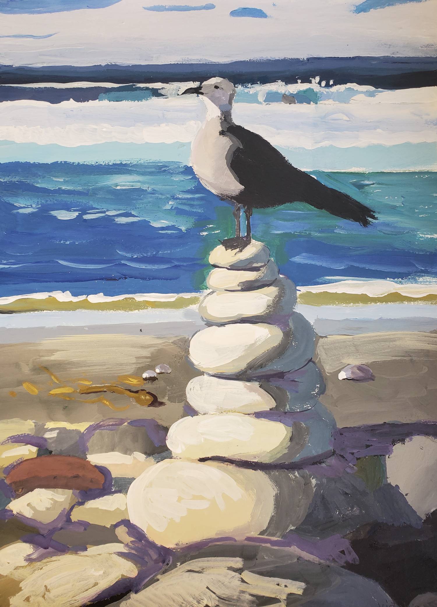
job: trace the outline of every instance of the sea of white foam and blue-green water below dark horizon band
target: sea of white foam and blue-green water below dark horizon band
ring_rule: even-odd
[[[204,290],[233,217],[189,164],[201,102],[177,98],[183,83],[92,84],[0,86],[0,297]],[[239,123],[378,217],[362,228],[305,203],[256,210],[253,237],[281,273],[298,286],[436,284],[437,172],[421,147],[435,146],[423,135],[433,95],[320,78],[238,87]]]

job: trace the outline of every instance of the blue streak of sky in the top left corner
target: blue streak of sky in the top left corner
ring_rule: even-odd
[[[120,0],[0,0],[0,13],[7,15],[41,15],[80,8],[105,8]]]

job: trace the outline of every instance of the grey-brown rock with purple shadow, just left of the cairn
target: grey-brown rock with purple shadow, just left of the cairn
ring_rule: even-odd
[[[162,444],[165,442],[167,429],[153,422],[153,430],[162,435]],[[149,436],[146,426],[133,426],[122,424],[112,429],[96,429],[88,439],[88,453],[118,452],[132,455],[133,452],[150,455],[159,451],[159,447],[153,441],[154,434]]]

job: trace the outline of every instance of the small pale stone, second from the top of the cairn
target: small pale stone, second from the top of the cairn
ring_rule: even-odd
[[[269,263],[259,270],[215,268],[208,274],[207,285],[213,291],[250,291],[271,285],[278,274],[278,266],[270,259]]]

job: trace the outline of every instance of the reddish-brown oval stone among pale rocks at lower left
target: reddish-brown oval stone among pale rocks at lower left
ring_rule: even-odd
[[[33,489],[102,489],[105,477],[86,459],[43,455],[16,464],[6,482],[17,495],[23,495]]]

